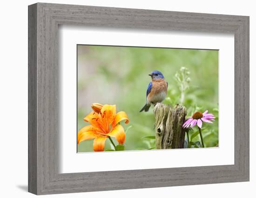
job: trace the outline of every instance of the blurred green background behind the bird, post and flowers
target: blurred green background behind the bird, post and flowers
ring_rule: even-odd
[[[209,110],[216,116],[213,124],[203,123],[205,147],[218,146],[218,51],[194,49],[165,49],[77,45],[78,130],[88,125],[83,118],[94,102],[116,104],[117,112],[125,111],[130,122],[121,125],[126,133],[125,150],[144,150],[155,147],[153,107],[149,112],[140,109],[146,102],[146,90],[153,70],[160,70],[168,81],[168,96],[163,103],[175,105],[181,101],[182,67],[189,78],[182,104],[191,116],[196,111]],[[190,82],[189,82],[190,81]],[[189,132],[190,140],[200,141],[196,127]],[[194,135],[193,135],[194,134]],[[112,138],[114,141],[115,139]],[[186,137],[187,140],[187,137]],[[117,142],[115,141],[116,145]],[[105,150],[111,148],[107,139]],[[93,140],[82,141],[78,152],[93,151]]]

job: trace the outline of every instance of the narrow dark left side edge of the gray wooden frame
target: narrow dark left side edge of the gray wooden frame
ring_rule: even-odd
[[[28,9],[28,191],[37,192],[37,6]]]

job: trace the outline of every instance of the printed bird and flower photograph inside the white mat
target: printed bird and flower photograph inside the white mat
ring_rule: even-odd
[[[77,45],[78,153],[218,147],[218,60],[218,50]],[[153,107],[160,121],[177,103],[175,126],[155,135]]]

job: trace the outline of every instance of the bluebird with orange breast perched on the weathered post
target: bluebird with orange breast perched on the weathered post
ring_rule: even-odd
[[[160,71],[152,71],[151,74],[148,74],[152,81],[148,84],[147,89],[147,102],[142,107],[141,111],[148,111],[151,104],[155,105],[157,102],[162,102],[167,94],[168,83],[164,79]]]

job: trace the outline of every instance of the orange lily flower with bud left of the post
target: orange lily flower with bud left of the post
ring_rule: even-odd
[[[124,111],[116,113],[115,105],[94,103],[91,105],[92,111],[83,120],[91,125],[81,128],[78,132],[77,143],[81,141],[94,139],[94,151],[104,151],[105,141],[108,137],[114,137],[119,144],[125,141],[125,132],[123,127],[118,124],[120,121],[129,119]]]

